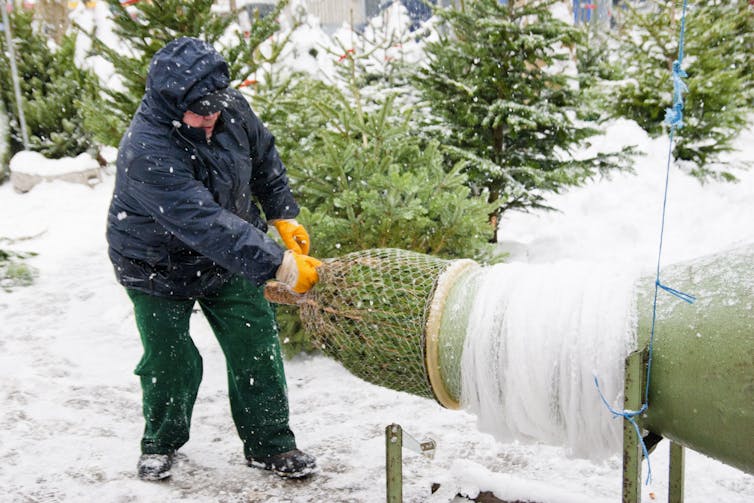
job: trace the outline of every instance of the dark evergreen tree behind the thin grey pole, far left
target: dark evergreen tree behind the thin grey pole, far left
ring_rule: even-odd
[[[84,126],[82,101],[99,93],[96,76],[75,64],[74,35],[65,35],[51,48],[48,37],[36,27],[33,12],[15,9],[10,13],[16,64],[29,149],[48,158],[75,157],[96,150],[91,131]],[[10,60],[0,37],[0,99],[10,123],[9,156],[23,150],[16,108]]]

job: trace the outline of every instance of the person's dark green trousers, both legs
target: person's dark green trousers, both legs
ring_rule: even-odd
[[[261,288],[241,277],[217,294],[171,299],[127,289],[144,355],[141,378],[143,454],[172,453],[189,439],[191,412],[202,380],[202,357],[189,335],[196,302],[225,354],[233,421],[246,458],[296,447],[288,427],[288,396],[272,306]]]

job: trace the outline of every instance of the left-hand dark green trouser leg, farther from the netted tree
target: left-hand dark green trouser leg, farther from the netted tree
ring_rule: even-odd
[[[144,354],[141,378],[143,454],[168,454],[189,439],[191,412],[202,380],[202,357],[189,335],[193,300],[128,290]]]

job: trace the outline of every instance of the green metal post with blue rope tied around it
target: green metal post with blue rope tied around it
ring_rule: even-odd
[[[637,410],[642,403],[644,381],[644,352],[637,351],[626,358],[623,408]],[[641,446],[631,423],[623,421],[623,503],[640,503]]]

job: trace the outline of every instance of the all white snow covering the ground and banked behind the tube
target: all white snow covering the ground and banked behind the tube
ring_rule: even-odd
[[[626,139],[647,156],[621,174],[553,197],[559,213],[509,215],[501,226],[511,260],[646,263],[653,269],[667,144],[628,122],[604,142]],[[742,135],[754,160],[754,129]],[[44,169],[44,166],[40,166]],[[699,184],[673,170],[666,263],[754,242],[754,172],[738,184]],[[404,454],[407,502],[447,502],[457,492],[493,490],[506,499],[615,502],[619,455],[569,458],[557,446],[500,442],[465,412],[360,381],[324,356],[286,362],[291,423],[320,473],[283,481],[245,466],[227,404],[223,358],[200,315],[192,333],[205,377],[191,441],[164,483],[136,478],[142,429],[133,368],[140,344],[131,306],[106,255],[104,226],[112,175],[87,188],[44,183],[25,195],[0,186],[0,246],[34,251],[35,284],[0,290],[0,487],[3,501],[379,502],[385,500],[384,429],[401,424],[437,442],[434,459]],[[29,238],[29,239],[24,239]],[[316,237],[315,237],[316,239]],[[745,439],[742,439],[745,441]],[[643,501],[664,501],[667,445],[652,455],[654,480]],[[432,495],[433,482],[441,484]],[[754,477],[687,452],[686,501],[754,500]]]

